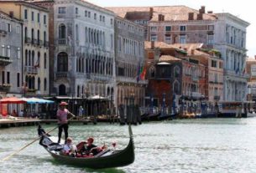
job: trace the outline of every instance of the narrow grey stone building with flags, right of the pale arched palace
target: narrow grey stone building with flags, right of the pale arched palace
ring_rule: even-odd
[[[116,88],[118,105],[144,106],[145,79],[139,79],[144,68],[144,28],[126,19],[115,18]]]

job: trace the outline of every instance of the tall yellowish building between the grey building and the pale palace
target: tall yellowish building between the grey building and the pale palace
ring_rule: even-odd
[[[0,1],[0,11],[23,21],[24,95],[49,94],[49,12],[24,1]]]

